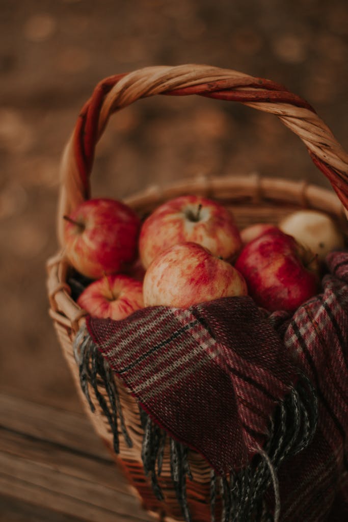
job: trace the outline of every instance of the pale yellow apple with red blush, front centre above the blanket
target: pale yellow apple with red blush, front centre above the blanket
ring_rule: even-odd
[[[246,295],[239,272],[197,243],[178,243],[161,252],[143,281],[145,306],[188,308],[221,297]]]

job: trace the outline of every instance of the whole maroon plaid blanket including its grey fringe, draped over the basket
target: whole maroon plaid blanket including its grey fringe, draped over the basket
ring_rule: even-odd
[[[113,372],[138,399],[143,462],[159,498],[156,462],[164,435],[171,437],[186,520],[187,448],[213,470],[212,519],[217,476],[222,520],[348,516],[348,254],[332,253],[327,263],[322,293],[293,316],[269,315],[243,296],[189,310],[151,307],[117,322],[88,317],[88,333],[77,336],[82,388],[89,398],[94,387],[116,451],[117,416],[131,441]],[[98,395],[97,375],[112,411]]]

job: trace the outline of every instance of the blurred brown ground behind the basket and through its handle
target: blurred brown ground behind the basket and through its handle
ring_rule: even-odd
[[[346,0],[0,0],[2,392],[81,410],[47,316],[59,157],[101,78],[182,63],[284,84],[348,149]],[[252,171],[328,186],[277,118],[232,103],[157,98],[112,118],[93,195]]]

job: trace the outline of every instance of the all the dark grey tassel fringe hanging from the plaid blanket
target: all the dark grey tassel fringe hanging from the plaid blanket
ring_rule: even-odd
[[[75,359],[79,365],[80,384],[90,408],[95,407],[89,388],[109,421],[113,436],[114,450],[119,453],[119,430],[128,446],[131,440],[127,433],[117,388],[109,364],[98,351],[86,327],[82,328],[74,342]],[[108,401],[99,391],[104,387]],[[158,481],[161,475],[165,432],[155,424],[150,416],[139,407],[143,429],[141,458],[144,472],[151,480],[157,499],[164,500]],[[278,522],[280,499],[277,470],[284,459],[301,452],[313,439],[318,418],[315,389],[305,375],[300,375],[297,385],[275,408],[270,420],[269,439],[264,448],[254,449],[256,455],[242,470],[231,471],[229,477],[220,477],[211,471],[210,511],[211,522]],[[188,463],[188,449],[170,438],[171,477],[179,505],[186,522],[191,522],[187,503],[186,478],[192,480]],[[265,493],[273,487],[275,505],[273,509],[265,502]]]

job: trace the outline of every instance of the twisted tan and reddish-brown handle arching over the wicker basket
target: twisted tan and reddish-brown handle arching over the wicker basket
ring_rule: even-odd
[[[139,98],[154,94],[199,94],[239,101],[277,115],[302,139],[311,159],[348,209],[348,155],[305,100],[271,80],[235,70],[207,65],[146,67],[102,80],[79,114],[61,163],[58,237],[62,244],[63,215],[90,197],[94,150],[110,115]]]

